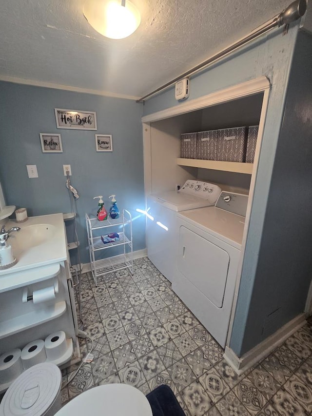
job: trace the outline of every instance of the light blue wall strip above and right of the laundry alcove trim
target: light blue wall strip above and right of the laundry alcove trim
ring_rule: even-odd
[[[254,280],[298,27],[299,22],[293,23],[286,36],[282,35],[282,27],[274,29],[269,35],[254,40],[238,52],[232,53],[228,58],[220,60],[197,76],[191,77],[190,82],[188,100],[260,76],[267,76],[272,83],[235,312],[234,330],[230,343],[238,357],[246,351],[247,345],[248,348],[252,348],[263,339],[262,328],[259,326],[254,331],[245,331],[245,329],[253,301],[252,297],[257,296],[257,293],[253,293]],[[175,100],[174,87],[172,87],[147,100],[143,111],[144,115],[148,115],[176,105],[178,103]],[[274,282],[272,282],[272,286],[274,286]],[[271,300],[261,293],[262,304],[257,308],[258,321],[265,320],[266,306],[268,304],[272,306]],[[259,303],[260,301],[258,305]],[[285,316],[281,315],[274,321],[274,328],[271,328],[273,331],[285,323]]]

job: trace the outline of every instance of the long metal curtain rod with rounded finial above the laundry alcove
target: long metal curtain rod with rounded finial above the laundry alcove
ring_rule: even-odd
[[[179,79],[188,77],[194,74],[196,71],[204,68],[205,66],[209,65],[210,63],[215,62],[217,59],[223,58],[225,55],[229,54],[230,52],[234,51],[235,49],[243,46],[247,42],[257,38],[258,36],[262,35],[263,33],[268,32],[270,29],[273,29],[275,26],[282,26],[283,24],[288,25],[295,20],[298,20],[302,17],[307,10],[307,1],[306,0],[295,0],[293,1],[285,10],[283,10],[279,15],[274,17],[272,20],[268,20],[266,23],[263,23],[261,27],[254,32],[251,32],[249,35],[245,36],[244,38],[238,40],[237,42],[233,43],[232,45],[228,46],[222,51],[218,52],[217,54],[213,55],[211,58],[204,60],[203,62],[199,63],[198,65],[194,66],[193,68],[189,69],[188,71],[184,72],[183,74],[179,75],[175,79],[167,82],[166,84],[161,85],[160,87],[156,88],[156,90],[152,91],[149,94],[146,94],[144,97],[137,99],[136,102],[144,101],[154,94],[164,90],[165,88],[171,86],[172,84],[176,83]]]

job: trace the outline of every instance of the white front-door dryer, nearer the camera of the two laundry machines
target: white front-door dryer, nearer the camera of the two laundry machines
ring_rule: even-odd
[[[224,348],[248,196],[222,192],[215,206],[177,215],[172,288]]]

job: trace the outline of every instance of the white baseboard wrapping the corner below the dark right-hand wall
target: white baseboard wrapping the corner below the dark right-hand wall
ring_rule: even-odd
[[[267,357],[275,348],[282,344],[285,339],[301,328],[307,322],[306,316],[306,314],[300,314],[293,318],[273,335],[260,342],[260,344],[256,345],[242,357],[237,357],[234,351],[226,346],[223,355],[224,359],[231,365],[235,373],[240,376],[262,358]]]

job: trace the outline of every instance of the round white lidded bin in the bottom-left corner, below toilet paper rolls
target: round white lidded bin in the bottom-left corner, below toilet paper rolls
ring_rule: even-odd
[[[58,396],[61,383],[57,365],[42,363],[30,367],[6,391],[0,403],[0,415],[44,415]]]

